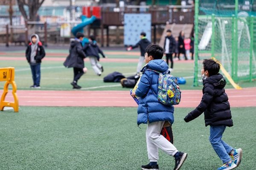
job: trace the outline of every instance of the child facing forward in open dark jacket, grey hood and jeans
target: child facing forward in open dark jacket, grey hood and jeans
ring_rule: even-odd
[[[41,88],[41,61],[45,56],[44,47],[37,34],[32,34],[26,48],[26,59],[29,62],[34,84],[30,88]]]

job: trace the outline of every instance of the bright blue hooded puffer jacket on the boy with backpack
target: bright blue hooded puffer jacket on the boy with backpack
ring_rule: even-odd
[[[143,74],[135,91],[136,96],[140,97],[137,124],[158,121],[169,121],[172,124],[174,122],[174,107],[163,105],[158,101],[156,95],[159,75],[154,71],[149,71],[148,68],[165,72],[168,69],[168,65],[162,59],[154,59],[142,69]]]

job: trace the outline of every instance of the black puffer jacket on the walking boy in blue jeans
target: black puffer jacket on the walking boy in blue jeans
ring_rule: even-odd
[[[204,112],[205,126],[233,126],[230,104],[224,89],[226,81],[222,85],[216,84],[221,79],[223,79],[223,76],[217,74],[204,80],[202,100],[198,107],[184,118],[186,122],[197,118]]]

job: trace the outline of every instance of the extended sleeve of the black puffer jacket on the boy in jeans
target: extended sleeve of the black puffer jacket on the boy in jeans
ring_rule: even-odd
[[[197,118],[198,116],[200,116],[209,106],[209,104],[212,102],[213,99],[213,89],[209,86],[207,86],[204,89],[204,94],[203,97],[201,99],[200,104],[198,105],[198,107],[195,108],[195,110],[191,111],[185,118],[185,122],[190,122],[193,119]]]

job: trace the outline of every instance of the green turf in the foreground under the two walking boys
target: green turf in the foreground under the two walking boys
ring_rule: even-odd
[[[221,165],[204,116],[186,123],[192,108],[175,108],[174,144],[188,153],[181,170],[215,170]],[[255,109],[232,108],[234,126],[224,141],[244,151],[237,170],[255,169]],[[20,107],[0,112],[1,170],[139,170],[147,164],[146,125],[137,127],[137,108]],[[161,170],[174,159],[160,151]]]

